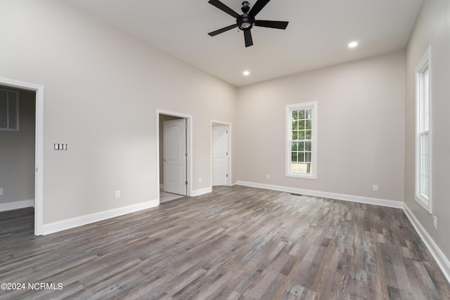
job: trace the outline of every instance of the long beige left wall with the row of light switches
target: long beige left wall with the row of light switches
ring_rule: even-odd
[[[157,109],[193,116],[193,189],[211,185],[210,119],[234,122],[235,87],[62,1],[0,11],[0,77],[45,88],[44,224],[157,198]]]

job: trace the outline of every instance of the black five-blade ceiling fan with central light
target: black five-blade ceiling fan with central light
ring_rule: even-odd
[[[250,3],[248,3],[248,1],[243,1],[242,8],[240,8],[243,12],[242,15],[239,15],[236,11],[233,11],[219,0],[208,1],[208,3],[216,6],[221,11],[224,11],[225,13],[228,13],[232,17],[236,18],[236,24],[221,28],[208,34],[210,34],[211,37],[214,37],[214,35],[239,27],[239,29],[244,32],[245,47],[249,47],[253,45],[252,33],[250,32],[253,26],[285,30],[286,27],[288,27],[288,22],[255,20],[256,15],[262,10],[262,8],[264,8],[264,6],[266,6],[266,4],[269,3],[269,1],[270,0],[257,0],[252,9],[250,9]]]

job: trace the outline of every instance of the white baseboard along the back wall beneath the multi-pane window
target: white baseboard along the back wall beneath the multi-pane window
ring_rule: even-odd
[[[359,202],[359,203],[365,203],[365,204],[373,204],[373,205],[380,205],[383,207],[394,207],[397,209],[403,208],[403,202],[401,201],[394,201],[394,200],[385,200],[385,199],[378,199],[378,198],[371,198],[371,197],[362,197],[362,196],[355,196],[355,195],[345,195],[345,194],[338,194],[338,193],[328,193],[328,192],[321,192],[319,190],[305,190],[303,188],[290,188],[287,186],[281,186],[281,185],[269,185],[264,183],[252,183],[248,181],[238,181],[238,185],[245,185],[252,188],[264,188],[266,190],[279,190],[281,192],[286,193],[295,193],[295,194],[302,194],[302,195],[309,195],[314,197],[323,197],[323,198],[330,198],[335,200],[345,200],[350,202]]]

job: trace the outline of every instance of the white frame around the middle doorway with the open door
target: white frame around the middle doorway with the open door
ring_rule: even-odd
[[[192,195],[192,136],[193,136],[193,117],[191,115],[186,115],[180,112],[172,112],[169,110],[156,110],[156,190],[158,195],[158,205],[160,201],[160,115],[169,115],[172,117],[179,117],[186,119],[186,124],[188,125],[188,130],[186,131],[186,150],[188,151],[188,159],[186,160],[186,181],[188,185],[186,186],[186,196]]]

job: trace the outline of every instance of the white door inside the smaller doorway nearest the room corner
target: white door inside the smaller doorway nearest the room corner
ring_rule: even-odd
[[[212,185],[228,185],[229,126],[212,126]]]

